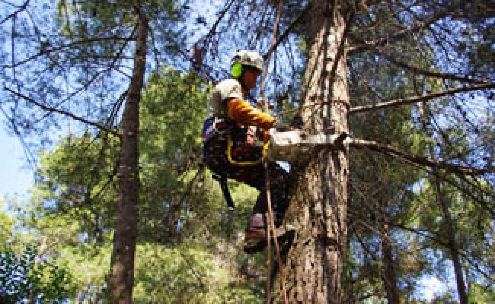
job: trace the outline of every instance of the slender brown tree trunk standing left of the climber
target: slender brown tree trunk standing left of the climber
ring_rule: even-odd
[[[119,304],[132,303],[134,286],[134,254],[138,229],[136,206],[139,194],[138,110],[146,68],[147,31],[146,19],[139,13],[134,70],[121,122],[119,201],[109,278],[111,302]]]

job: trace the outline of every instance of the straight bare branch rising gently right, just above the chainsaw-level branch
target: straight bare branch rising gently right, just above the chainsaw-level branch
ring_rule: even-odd
[[[412,103],[416,103],[416,102],[425,102],[425,101],[429,101],[429,100],[434,99],[434,98],[438,98],[438,97],[442,97],[442,96],[446,96],[446,95],[452,95],[452,94],[459,93],[459,92],[469,92],[469,91],[483,90],[483,89],[490,89],[490,88],[495,88],[495,83],[485,83],[485,84],[480,84],[480,85],[475,85],[475,86],[449,89],[446,91],[442,91],[442,92],[438,92],[438,93],[430,94],[430,95],[414,96],[414,97],[409,97],[409,98],[404,98],[404,99],[386,101],[386,102],[382,102],[382,103],[379,103],[376,105],[354,107],[354,108],[351,108],[349,110],[349,114],[366,112],[369,110],[377,110],[377,109],[383,109],[383,108],[408,105],[408,104],[412,104]]]

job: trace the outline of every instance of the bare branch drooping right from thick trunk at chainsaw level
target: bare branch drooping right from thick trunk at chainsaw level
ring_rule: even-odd
[[[406,152],[402,152],[390,145],[380,144],[374,141],[367,141],[363,139],[351,139],[349,141],[349,147],[357,148],[357,149],[368,149],[383,153],[385,155],[398,157],[421,166],[441,168],[455,173],[469,174],[469,175],[482,175],[486,173],[495,173],[495,168],[479,169],[479,168],[465,167],[462,165],[449,164],[445,161],[436,161],[425,156],[413,155]]]

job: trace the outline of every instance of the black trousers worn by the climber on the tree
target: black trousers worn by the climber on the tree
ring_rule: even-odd
[[[241,132],[232,135],[232,159],[236,161],[254,161],[259,159],[262,147],[246,143],[246,136]],[[247,228],[266,227],[265,168],[263,164],[233,165],[227,158],[227,134],[219,134],[210,139],[203,147],[204,157],[208,168],[218,175],[226,176],[259,190],[252,215]],[[274,211],[275,226],[281,225],[284,213],[289,205],[287,196],[289,174],[276,162],[269,162],[270,197]]]

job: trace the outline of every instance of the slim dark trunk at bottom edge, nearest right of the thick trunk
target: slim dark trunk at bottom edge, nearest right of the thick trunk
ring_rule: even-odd
[[[386,218],[386,217],[384,217]],[[380,237],[382,240],[383,253],[383,282],[389,304],[399,304],[400,298],[397,289],[397,274],[394,256],[392,253],[392,242],[390,241],[389,225],[380,224]]]

